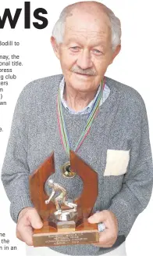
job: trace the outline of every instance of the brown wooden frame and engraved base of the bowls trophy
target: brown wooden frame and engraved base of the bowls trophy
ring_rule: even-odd
[[[30,175],[30,197],[43,222],[41,229],[34,229],[34,247],[96,243],[99,240],[98,225],[87,222],[98,197],[98,174],[72,150],[70,169],[80,176],[84,188],[80,197],[73,200],[73,204],[77,204],[77,211],[72,214],[69,207],[63,205],[61,219],[56,218],[57,209],[54,201],[45,204],[48,195],[44,185],[55,173],[54,153]],[[71,217],[63,219],[65,215]]]

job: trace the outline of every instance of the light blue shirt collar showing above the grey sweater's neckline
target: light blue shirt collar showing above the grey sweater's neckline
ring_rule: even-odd
[[[100,89],[101,89],[101,86],[100,86],[100,85],[99,85],[99,87],[98,87],[98,92],[97,92],[96,95],[94,96],[94,99],[92,99],[91,102],[90,102],[83,110],[79,110],[79,111],[72,110],[72,109],[67,105],[66,100],[65,100],[64,97],[63,97],[64,87],[65,87],[65,79],[64,79],[64,77],[63,77],[63,78],[62,78],[62,81],[60,82],[59,89],[60,89],[60,95],[61,95],[62,105],[63,105],[67,110],[69,110],[69,113],[71,113],[71,114],[89,114],[89,113],[91,113],[92,107],[94,106],[94,102],[95,102],[95,100],[97,99],[98,94],[99,94]],[[103,95],[102,95],[101,101],[100,101],[100,106],[101,106],[101,104],[104,103],[105,100],[108,98],[109,92],[110,92],[109,86],[105,84],[105,88],[104,88],[104,90],[103,90]]]

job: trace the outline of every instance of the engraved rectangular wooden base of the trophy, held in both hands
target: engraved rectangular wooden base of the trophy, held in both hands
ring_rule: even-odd
[[[99,241],[99,233],[96,224],[87,224],[86,226],[83,223],[83,225],[80,225],[75,231],[71,230],[65,229],[65,232],[63,230],[57,231],[49,226],[44,226],[42,229],[34,229],[34,247],[96,243]]]

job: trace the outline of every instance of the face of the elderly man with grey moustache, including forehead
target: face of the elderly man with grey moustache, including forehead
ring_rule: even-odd
[[[79,92],[92,92],[98,88],[116,56],[116,52],[112,52],[111,36],[105,13],[101,17],[74,11],[73,16],[66,18],[63,42],[54,45],[66,86]]]

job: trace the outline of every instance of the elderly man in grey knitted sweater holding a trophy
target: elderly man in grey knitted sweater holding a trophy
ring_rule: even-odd
[[[61,171],[70,148],[98,173],[98,198],[88,222],[103,222],[105,230],[99,243],[52,249],[70,255],[126,255],[126,236],[151,197],[153,169],[143,99],[133,88],[105,77],[119,53],[120,37],[119,19],[105,5],[67,6],[51,38],[62,74],[33,81],[20,94],[2,182],[16,235],[29,246],[33,228],[42,223],[30,201],[28,177],[54,150],[53,179],[77,197],[83,188],[80,178],[66,178]],[[48,247],[34,250],[51,252]]]

